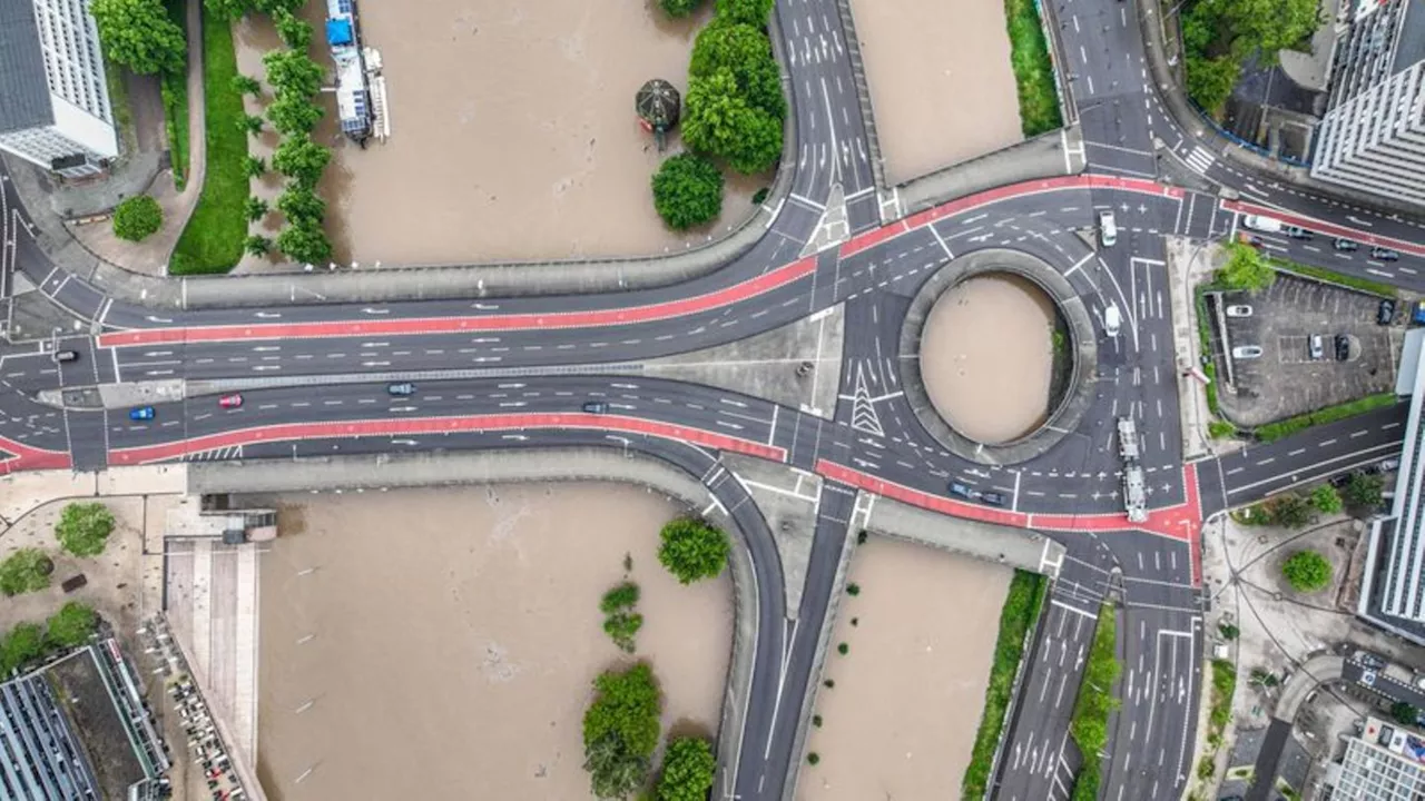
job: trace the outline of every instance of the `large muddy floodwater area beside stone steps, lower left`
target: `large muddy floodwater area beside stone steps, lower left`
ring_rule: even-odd
[[[731,582],[684,587],[658,564],[678,512],[663,496],[590,483],[286,500],[261,573],[258,770],[274,801],[589,798],[590,683],[631,658],[598,614],[626,553],[664,731],[715,733]]]

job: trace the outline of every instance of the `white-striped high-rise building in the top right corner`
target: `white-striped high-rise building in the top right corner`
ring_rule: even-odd
[[[1311,175],[1425,205],[1425,0],[1362,0],[1337,44]]]

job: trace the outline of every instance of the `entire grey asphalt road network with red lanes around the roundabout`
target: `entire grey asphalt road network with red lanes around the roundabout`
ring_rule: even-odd
[[[0,450],[14,456],[0,462],[0,472],[550,445],[651,453],[710,486],[737,519],[752,559],[757,657],[741,700],[741,754],[724,765],[732,791],[745,800],[781,797],[795,772],[799,704],[817,678],[817,633],[849,536],[855,489],[1039,527],[1069,547],[1069,559],[1012,713],[999,797],[1066,798],[1084,758],[1103,760],[1104,798],[1180,797],[1201,690],[1193,526],[1204,515],[1391,455],[1404,412],[1381,410],[1184,467],[1163,237],[1231,238],[1238,214],[1265,204],[1318,234],[1312,241],[1268,237],[1264,248],[1416,289],[1425,248],[1412,242],[1425,237],[1418,221],[1311,198],[1204,150],[1163,111],[1147,80],[1134,4],[1064,0],[1046,9],[1053,46],[1072,76],[1072,114],[1082,124],[1089,170],[1123,181],[1039,181],[955,201],[913,227],[881,229],[846,23],[829,0],[789,0],[777,6],[777,30],[798,133],[791,195],[741,258],[657,289],[154,311],[111,298],[50,262],[13,188],[0,182],[0,296],[23,275],[81,322],[57,341],[80,353],[76,362],[54,363],[48,342],[0,346]],[[1238,188],[1241,200],[1156,184],[1161,154],[1154,138],[1167,158]],[[1102,210],[1113,210],[1120,239],[1090,248],[1082,234],[1092,232]],[[841,211],[852,238],[811,252],[817,237],[845,238],[828,225]],[[1368,248],[1328,249],[1341,235],[1411,247],[1399,262],[1385,264],[1368,258]],[[1070,281],[1096,321],[1099,371],[1083,422],[1054,448],[1013,466],[948,453],[921,428],[899,386],[901,362],[915,358],[899,351],[909,298],[949,258],[985,248],[1043,259]],[[835,305],[845,306],[846,329],[841,400],[829,420],[641,375],[648,359],[744,339]],[[1102,326],[1109,305],[1124,315],[1119,336]],[[103,334],[91,336],[91,326]],[[416,393],[389,395],[386,381],[396,376],[418,376]],[[217,396],[191,396],[155,403],[152,420],[133,420],[125,409],[56,409],[37,400],[43,391],[174,379],[241,388],[244,403],[222,409]],[[590,400],[606,409],[584,413]],[[1113,440],[1119,416],[1136,419],[1143,432],[1156,512],[1143,527],[1121,516]],[[767,523],[720,462],[724,452],[835,479],[824,482],[795,613],[784,609]],[[955,502],[949,482],[998,490],[1006,506]],[[1120,609],[1123,707],[1110,725],[1110,753],[1084,755],[1067,728],[1093,616],[1106,600]]]

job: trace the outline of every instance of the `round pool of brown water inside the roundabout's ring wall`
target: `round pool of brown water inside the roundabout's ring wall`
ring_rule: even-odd
[[[1049,416],[1053,302],[1010,275],[982,275],[935,302],[921,335],[921,375],[936,410],[986,443],[1019,439]]]

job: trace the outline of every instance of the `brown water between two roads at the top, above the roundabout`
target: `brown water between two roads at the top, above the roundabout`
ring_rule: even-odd
[[[1023,138],[998,0],[851,0],[892,185]]]

